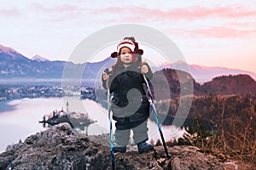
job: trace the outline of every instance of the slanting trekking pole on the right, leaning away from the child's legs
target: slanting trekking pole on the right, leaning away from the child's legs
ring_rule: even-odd
[[[162,143],[163,143],[164,148],[165,148],[166,158],[169,159],[170,157],[169,157],[168,150],[167,150],[167,147],[166,147],[166,141],[165,141],[165,138],[164,138],[164,134],[163,134],[162,128],[160,127],[160,122],[159,122],[158,114],[157,114],[157,111],[156,111],[155,106],[154,106],[154,99],[153,99],[153,96],[151,94],[151,90],[149,88],[148,80],[147,80],[147,78],[144,75],[143,75],[143,78],[144,78],[144,80],[146,82],[146,86],[147,86],[147,87],[143,87],[143,88],[146,88],[146,89],[144,89],[145,93],[148,92],[148,99],[149,99],[149,102],[151,103],[151,105],[153,107],[153,110],[154,110],[154,118],[155,118],[155,121],[157,123],[158,129],[159,129],[159,132],[160,132],[160,137],[162,139]]]

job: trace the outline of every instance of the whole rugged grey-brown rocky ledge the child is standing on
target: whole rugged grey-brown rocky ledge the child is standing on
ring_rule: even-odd
[[[0,169],[111,169],[109,136],[85,137],[68,124],[51,127],[10,145],[0,154]],[[138,154],[131,146],[125,154],[115,154],[116,169],[224,169],[216,157],[193,146],[162,146]]]

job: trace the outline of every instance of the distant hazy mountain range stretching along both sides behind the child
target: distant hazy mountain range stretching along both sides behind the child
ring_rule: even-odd
[[[73,62],[44,59],[35,55],[32,59],[20,54],[13,48],[0,45],[0,78],[41,78],[41,79],[61,79],[63,75],[68,78],[95,79],[104,71],[103,67],[114,63],[115,59],[110,57],[101,62],[74,64]],[[174,67],[175,66],[175,67]],[[180,71],[186,71],[188,65],[182,61],[176,63],[160,65],[152,68],[153,71],[160,71],[163,68],[172,68]],[[189,70],[196,82],[209,82],[214,77],[246,74],[256,80],[256,74],[250,71],[241,71],[221,67],[206,67],[201,65],[189,65]],[[66,71],[66,72],[65,72]],[[68,72],[67,72],[68,71]],[[81,75],[78,75],[80,72]],[[63,74],[64,73],[64,74]]]

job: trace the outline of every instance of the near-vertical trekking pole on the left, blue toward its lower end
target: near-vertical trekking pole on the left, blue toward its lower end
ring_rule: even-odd
[[[109,75],[108,68],[104,71]],[[110,129],[110,151],[111,151],[111,161],[112,169],[114,170],[114,152],[113,152],[113,129],[112,129],[112,115],[111,115],[111,103],[110,103],[110,89],[109,89],[109,80],[106,83],[108,89],[108,120],[109,120],[109,129]]]

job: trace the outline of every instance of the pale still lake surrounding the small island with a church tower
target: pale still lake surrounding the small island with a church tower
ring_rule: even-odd
[[[52,111],[66,111],[67,101],[69,111],[85,113],[96,122],[88,127],[89,135],[109,133],[108,111],[95,101],[78,98],[49,98],[49,99],[15,99],[0,102],[0,152],[9,144],[16,144],[21,139],[24,141],[29,135],[44,131],[46,128],[38,121]],[[114,123],[114,122],[113,122]],[[114,126],[113,126],[114,127]],[[163,127],[166,141],[182,137],[185,130],[174,126]],[[160,139],[158,127],[155,122],[148,120],[148,137],[150,141]]]

